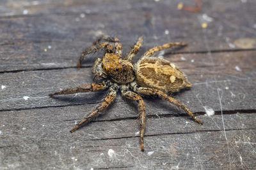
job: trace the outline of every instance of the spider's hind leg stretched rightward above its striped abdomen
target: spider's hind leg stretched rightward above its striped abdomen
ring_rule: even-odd
[[[156,52],[159,52],[161,50],[165,50],[166,48],[171,48],[173,46],[186,46],[186,45],[187,44],[185,44],[185,43],[175,42],[175,43],[167,43],[167,44],[164,44],[162,46],[155,46],[154,48],[150,48],[147,52],[145,52],[142,55],[141,60],[154,55],[154,53],[156,53]]]

